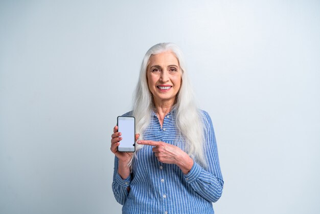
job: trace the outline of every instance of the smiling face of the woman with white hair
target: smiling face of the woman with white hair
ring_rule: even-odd
[[[147,67],[147,80],[154,103],[175,101],[181,85],[181,72],[177,57],[171,52],[152,55]]]

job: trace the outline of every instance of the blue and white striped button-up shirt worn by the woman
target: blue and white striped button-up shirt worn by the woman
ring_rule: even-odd
[[[205,111],[201,111],[201,117],[207,127],[204,133],[207,169],[194,161],[190,172],[184,175],[177,165],[159,162],[152,146],[145,145],[136,152],[138,158],[133,159],[131,175],[123,180],[118,174],[119,159],[115,157],[112,190],[123,205],[122,213],[214,213],[212,202],[220,198],[223,180],[211,118]],[[163,141],[184,149],[183,141],[177,140],[177,132],[172,110],[165,116],[163,127],[152,113],[143,136],[144,140]]]

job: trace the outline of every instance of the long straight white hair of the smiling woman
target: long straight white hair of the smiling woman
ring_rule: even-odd
[[[179,135],[184,139],[186,151],[202,166],[207,166],[204,156],[204,126],[200,112],[196,106],[193,90],[185,69],[185,61],[180,48],[173,43],[159,43],[152,46],[143,58],[140,76],[133,96],[133,116],[136,121],[136,133],[143,139],[143,133],[150,124],[151,114],[154,110],[152,94],[148,88],[147,67],[152,55],[171,51],[177,57],[181,72],[181,87],[177,94],[175,111],[176,125]],[[143,145],[136,144],[136,152]]]

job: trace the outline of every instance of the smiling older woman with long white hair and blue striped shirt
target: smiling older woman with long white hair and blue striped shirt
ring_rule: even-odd
[[[123,213],[214,213],[223,188],[211,118],[197,109],[181,50],[151,47],[142,62],[133,111],[135,153],[115,154],[112,190]]]

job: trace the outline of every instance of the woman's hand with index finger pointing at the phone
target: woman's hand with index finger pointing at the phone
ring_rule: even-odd
[[[151,145],[152,152],[162,163],[176,164],[184,174],[188,174],[193,166],[193,160],[181,148],[161,141],[139,140],[138,144]]]

